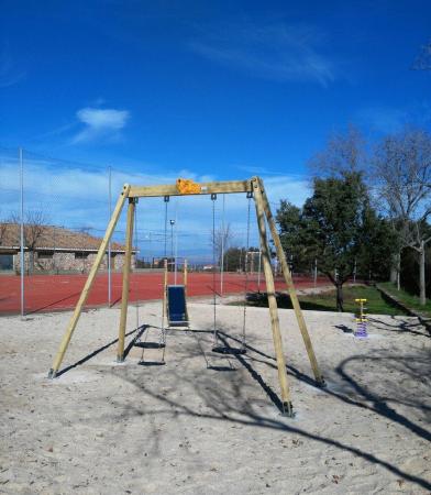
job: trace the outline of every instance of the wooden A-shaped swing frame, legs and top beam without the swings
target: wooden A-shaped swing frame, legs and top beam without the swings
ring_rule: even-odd
[[[125,184],[121,190],[115,208],[112,212],[112,217],[108,223],[107,231],[103,240],[100,244],[95,263],[90,270],[87,282],[82,288],[79,300],[75,307],[74,314],[70,318],[66,333],[63,337],[58,352],[54,359],[53,366],[49,370],[48,377],[54,378],[57,376],[59,366],[63,362],[64,355],[70,342],[71,336],[75,331],[79,317],[82,312],[84,305],[87,301],[89,292],[95,282],[97,272],[102,262],[102,258],[107,252],[108,243],[115,229],[117,222],[120,218],[120,213],[126,199],[129,199],[128,219],[126,219],[126,232],[125,232],[125,260],[123,265],[123,285],[122,285],[122,298],[121,298],[121,316],[119,327],[119,340],[117,360],[119,362],[124,361],[124,337],[125,326],[128,317],[129,306],[129,286],[130,286],[130,272],[131,272],[131,258],[132,258],[132,239],[133,239],[133,222],[135,216],[135,207],[139,198],[146,197],[167,197],[167,196],[190,196],[190,195],[217,195],[217,194],[235,194],[235,193],[252,193],[255,208],[256,218],[261,240],[262,260],[264,267],[264,275],[266,280],[266,292],[268,298],[270,326],[273,332],[274,350],[277,361],[278,382],[280,385],[280,395],[284,414],[292,416],[292,406],[290,399],[290,388],[287,380],[286,361],[283,352],[283,341],[280,333],[280,324],[278,318],[277,299],[275,294],[274,275],[270,266],[270,254],[268,251],[268,241],[266,233],[266,222],[269,227],[270,235],[273,238],[276,255],[280,263],[283,275],[287,285],[287,289],[294,306],[295,316],[298,321],[298,327],[302,336],[303,343],[306,345],[307,354],[311,364],[312,372],[318,385],[324,386],[324,378],[320,372],[314,350],[311,343],[310,336],[307,330],[307,326],[302,316],[302,311],[299,305],[298,296],[294,286],[292,277],[289,266],[286,261],[286,255],[281,246],[281,242],[277,232],[276,223],[270,211],[269,202],[265,193],[263,180],[259,177],[252,177],[246,180],[232,180],[232,182],[214,182],[214,183],[201,183],[196,184],[196,187],[188,188],[187,191],[180,190],[176,185],[161,185],[161,186],[131,186]],[[191,182],[190,182],[191,183]],[[265,221],[266,219],[266,221]],[[166,284],[166,280],[165,280]],[[166,301],[164,300],[164,315],[166,315]]]

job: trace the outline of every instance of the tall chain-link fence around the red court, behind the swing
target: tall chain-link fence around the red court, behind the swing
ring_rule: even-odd
[[[166,184],[176,178],[0,147],[0,312],[73,308],[123,184]],[[140,199],[134,274],[158,276],[163,258],[168,257],[173,270],[180,271],[187,258],[192,271],[219,272],[220,293],[224,271],[251,271],[253,266],[259,278],[254,205],[248,241],[247,207],[245,195],[219,195],[214,201],[208,196]],[[101,263],[89,306],[113,305],[121,297],[125,210]],[[255,254],[245,254],[253,250]],[[159,286],[158,278],[152,280],[147,278],[146,284]],[[142,285],[136,280],[133,289],[132,284],[131,300],[148,297]],[[154,293],[154,298],[161,296]]]

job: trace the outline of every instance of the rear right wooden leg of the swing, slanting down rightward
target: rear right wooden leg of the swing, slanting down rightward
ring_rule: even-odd
[[[281,264],[281,271],[283,271],[283,275],[285,277],[285,282],[286,282],[286,285],[287,285],[287,290],[289,293],[290,300],[291,300],[291,304],[294,306],[295,316],[296,316],[296,319],[298,321],[298,326],[299,326],[299,330],[300,330],[301,336],[302,336],[303,343],[306,344],[307,354],[308,354],[308,358],[310,360],[310,364],[311,364],[311,367],[312,367],[312,371],[313,371],[313,374],[314,374],[314,378],[316,378],[316,382],[319,385],[324,386],[325,385],[324,378],[323,378],[323,376],[322,376],[322,374],[320,372],[319,364],[318,364],[318,361],[316,359],[316,354],[314,354],[314,350],[313,350],[313,346],[312,346],[312,343],[311,343],[311,339],[310,339],[310,336],[309,336],[308,330],[307,330],[307,324],[306,324],[306,321],[303,319],[301,307],[299,305],[298,295],[297,295],[297,293],[295,290],[294,280],[291,278],[289,265],[287,264],[286,255],[285,255],[285,252],[284,252],[283,246],[281,246],[281,241],[280,241],[280,238],[278,235],[277,228],[276,228],[276,224],[275,224],[275,220],[274,220],[273,213],[272,213],[270,208],[269,208],[268,198],[266,197],[266,193],[265,193],[265,188],[264,188],[263,184],[261,183],[259,179],[257,179],[257,180],[259,183],[259,190],[262,191],[264,210],[265,210],[266,218],[268,220],[268,226],[269,226],[270,234],[272,234],[272,238],[273,238],[273,241],[274,241],[274,245],[275,245],[275,249],[276,249],[276,252],[277,252],[277,257],[278,257],[278,260],[279,260],[279,262]]]

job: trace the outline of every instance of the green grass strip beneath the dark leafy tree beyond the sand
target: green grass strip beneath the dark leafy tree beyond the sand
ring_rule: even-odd
[[[357,311],[355,299],[367,299],[366,312],[372,315],[406,315],[406,312],[396,305],[390,304],[383,298],[382,293],[375,287],[368,286],[345,286],[343,288],[344,311]],[[336,311],[335,289],[327,290],[320,294],[308,294],[299,296],[301,308],[305,310]],[[235,302],[237,304],[237,302]],[[290,297],[287,294],[277,294],[277,304],[279,308],[291,309]],[[247,305],[255,307],[267,307],[266,294],[253,294],[247,297]]]

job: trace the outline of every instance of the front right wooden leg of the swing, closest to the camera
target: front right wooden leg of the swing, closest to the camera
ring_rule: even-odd
[[[253,185],[254,200],[256,205],[257,226],[261,238],[262,260],[264,262],[264,274],[266,279],[266,292],[268,296],[270,326],[273,330],[274,349],[277,360],[278,381],[281,388],[283,409],[284,414],[292,417],[294,411],[290,400],[289,383],[287,380],[286,361],[285,355],[283,353],[283,341],[278,319],[277,299],[275,297],[274,276],[273,271],[270,268],[270,257],[268,253],[268,245],[266,238],[265,211],[261,191],[261,184],[256,177],[252,179],[252,185]]]

